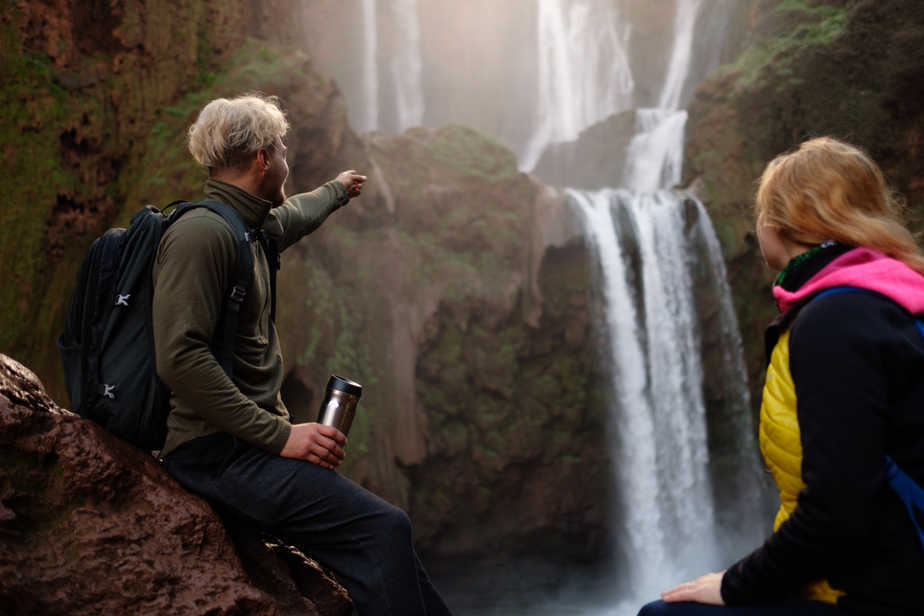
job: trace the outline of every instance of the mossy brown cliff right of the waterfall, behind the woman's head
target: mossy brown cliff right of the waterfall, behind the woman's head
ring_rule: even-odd
[[[767,162],[832,135],[866,149],[924,229],[924,6],[900,0],[755,1],[745,49],[696,92],[685,178],[722,241],[748,358],[752,400],[763,385],[771,273],[751,215]]]

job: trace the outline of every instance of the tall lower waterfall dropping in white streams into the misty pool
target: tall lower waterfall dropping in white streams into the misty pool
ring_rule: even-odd
[[[615,540],[630,563],[644,563],[629,575],[639,596],[652,597],[716,564],[690,257],[698,236],[715,234],[695,201],[696,233],[689,231],[669,191],[568,193],[600,264],[614,374],[613,472],[626,503],[616,512]]]

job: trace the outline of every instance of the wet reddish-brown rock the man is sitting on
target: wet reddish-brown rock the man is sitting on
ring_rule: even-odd
[[[233,537],[154,458],[56,406],[0,355],[0,613],[351,612],[295,548]]]

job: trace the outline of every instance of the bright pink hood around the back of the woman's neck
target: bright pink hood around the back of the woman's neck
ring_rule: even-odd
[[[868,248],[854,248],[828,263],[797,291],[773,287],[780,312],[831,287],[858,287],[885,295],[911,314],[924,313],[924,276],[901,261]]]

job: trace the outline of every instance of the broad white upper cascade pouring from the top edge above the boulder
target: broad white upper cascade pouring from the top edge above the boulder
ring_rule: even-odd
[[[630,28],[612,6],[592,0],[539,0],[536,129],[520,152],[532,169],[545,147],[628,109],[634,82]]]

